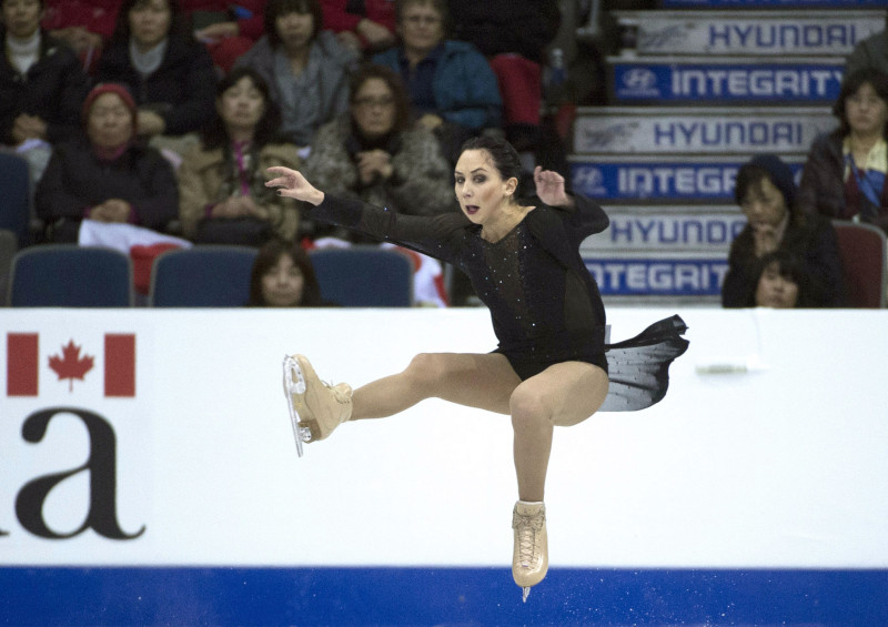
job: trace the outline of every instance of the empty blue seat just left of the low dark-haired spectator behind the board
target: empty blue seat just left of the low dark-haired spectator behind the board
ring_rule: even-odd
[[[250,299],[256,249],[198,245],[154,260],[148,304],[153,307],[240,307]]]

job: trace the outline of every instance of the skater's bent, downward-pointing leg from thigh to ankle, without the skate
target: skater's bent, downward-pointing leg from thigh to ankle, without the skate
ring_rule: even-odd
[[[607,374],[582,362],[555,364],[515,388],[509,406],[518,498],[544,500],[554,427],[583,422],[605,396]]]

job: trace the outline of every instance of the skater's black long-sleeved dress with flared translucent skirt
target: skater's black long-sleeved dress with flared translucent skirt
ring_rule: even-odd
[[[326,194],[312,218],[354,229],[450,263],[465,272],[487,306],[496,352],[522,380],[567,361],[595,364],[610,387],[601,411],[640,409],[668,387],[668,367],[687,350],[680,317],[659,321],[636,337],[605,344],[605,311],[598,286],[579,255],[579,244],[609,224],[604,210],[584,196],[566,210],[536,203],[497,242],[462,213],[397,214]]]

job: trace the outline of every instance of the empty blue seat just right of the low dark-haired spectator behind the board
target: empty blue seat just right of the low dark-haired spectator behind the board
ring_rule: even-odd
[[[309,256],[326,301],[344,307],[413,305],[413,263],[403,253],[359,245],[315,249]]]

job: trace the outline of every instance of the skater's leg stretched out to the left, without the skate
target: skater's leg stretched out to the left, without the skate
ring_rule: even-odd
[[[508,414],[509,396],[519,383],[498,353],[423,353],[404,372],[355,390],[352,419],[391,416],[433,397]]]

